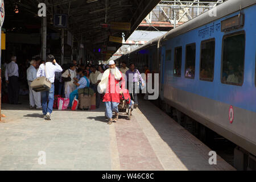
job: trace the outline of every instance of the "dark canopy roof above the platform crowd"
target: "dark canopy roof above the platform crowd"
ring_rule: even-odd
[[[38,19],[38,4],[46,3],[47,26],[60,30],[53,26],[54,14],[67,14],[68,27],[66,30],[74,36],[75,42],[82,40],[85,48],[96,59],[100,59],[100,53],[93,52],[95,48],[106,46],[121,47],[121,43],[110,42],[109,36],[122,36],[127,39],[138,27],[139,23],[159,3],[160,0],[8,0],[5,1],[6,9],[14,11],[26,11],[31,18]],[[7,13],[7,10],[6,10]],[[26,16],[27,17],[27,16]],[[29,22],[30,19],[23,19]],[[130,23],[130,30],[112,30],[111,22]]]

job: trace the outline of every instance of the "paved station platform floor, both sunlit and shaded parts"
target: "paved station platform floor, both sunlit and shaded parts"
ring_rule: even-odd
[[[104,105],[92,111],[54,110],[44,121],[28,105],[2,105],[0,170],[234,170],[150,101],[140,101],[108,125]],[[38,152],[46,152],[46,165]]]

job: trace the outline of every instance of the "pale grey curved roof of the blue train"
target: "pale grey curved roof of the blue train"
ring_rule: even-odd
[[[184,34],[185,32],[191,31],[197,27],[201,27],[204,24],[213,22],[214,20],[232,14],[236,11],[239,11],[240,9],[244,9],[245,7],[254,5],[255,3],[255,0],[228,0],[221,5],[216,6],[217,16],[209,16],[209,11],[206,11],[205,13],[197,16],[196,18],[193,18],[188,22],[181,24],[180,26],[168,31],[166,34],[159,36],[158,38],[152,39],[150,42],[147,42],[143,46],[140,46],[127,54],[130,55],[131,53],[137,52],[141,49],[146,49],[150,46],[154,46],[158,44],[159,39],[168,40],[170,38],[174,38],[175,36]]]

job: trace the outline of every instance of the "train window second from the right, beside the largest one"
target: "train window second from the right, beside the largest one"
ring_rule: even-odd
[[[200,80],[213,81],[215,39],[201,42]]]

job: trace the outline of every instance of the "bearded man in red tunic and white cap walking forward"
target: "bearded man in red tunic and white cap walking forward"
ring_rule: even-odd
[[[118,105],[120,102],[119,93],[121,88],[119,86],[121,82],[121,88],[125,88],[125,78],[123,78],[122,73],[117,67],[115,67],[115,62],[113,60],[109,61],[109,68],[103,73],[101,77],[101,82],[98,84],[100,92],[104,92],[103,102],[105,102],[105,115],[109,119],[108,124],[111,125],[113,121],[118,119]],[[113,119],[112,112],[115,112],[115,118]]]

